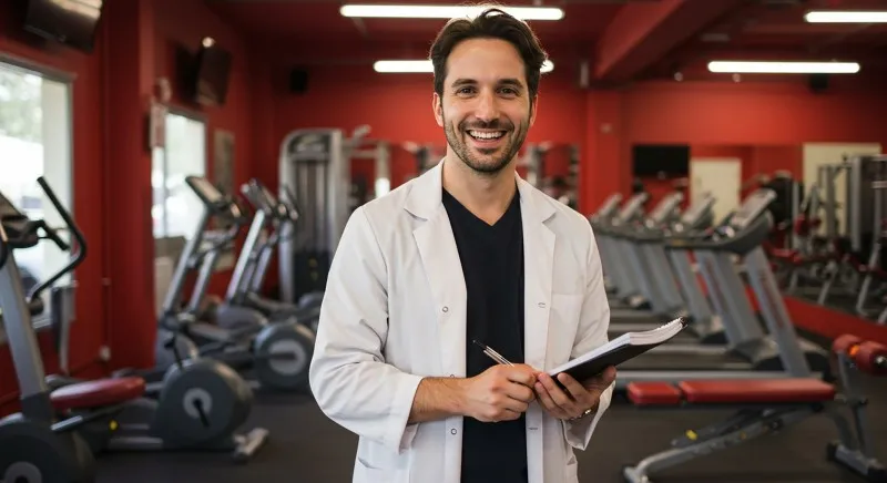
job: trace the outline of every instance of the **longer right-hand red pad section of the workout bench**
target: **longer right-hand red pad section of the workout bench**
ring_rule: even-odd
[[[822,402],[834,399],[836,392],[818,379],[681,381],[677,387],[694,404]]]

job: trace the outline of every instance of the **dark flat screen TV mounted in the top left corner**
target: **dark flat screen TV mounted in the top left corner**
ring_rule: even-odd
[[[91,53],[104,0],[27,0],[24,30]]]

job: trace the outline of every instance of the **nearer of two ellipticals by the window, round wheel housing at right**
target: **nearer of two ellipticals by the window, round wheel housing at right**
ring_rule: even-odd
[[[252,371],[257,387],[277,391],[307,390],[315,338],[312,329],[293,320],[288,323],[269,323],[261,312],[247,307],[236,307],[236,310],[232,308],[225,312],[215,310],[212,317],[204,317],[206,314],[197,310],[194,304],[185,310],[180,309],[188,273],[200,267],[194,291],[205,294],[218,251],[236,237],[244,219],[237,203],[223,195],[206,178],[187,176],[185,183],[203,202],[204,212],[182,251],[166,292],[160,318],[161,335],[169,332],[182,336],[175,347],[188,358],[195,354],[211,357],[238,371]],[[214,240],[208,249],[202,250],[204,234],[213,220],[232,227],[224,237]],[[160,337],[156,346],[157,369],[174,363],[174,352]]]

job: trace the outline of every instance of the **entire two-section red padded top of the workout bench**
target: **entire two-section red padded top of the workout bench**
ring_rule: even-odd
[[[737,379],[667,382],[632,382],[629,398],[639,405],[692,404],[787,404],[826,402],[835,387],[818,379]]]

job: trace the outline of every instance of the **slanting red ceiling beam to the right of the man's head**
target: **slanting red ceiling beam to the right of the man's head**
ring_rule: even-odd
[[[747,0],[661,0],[626,4],[597,48],[594,76],[624,82]]]

